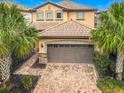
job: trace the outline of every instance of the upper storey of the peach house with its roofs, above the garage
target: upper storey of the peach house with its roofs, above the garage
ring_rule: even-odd
[[[71,19],[91,28],[94,27],[96,9],[71,0],[58,3],[46,2],[33,8],[33,10],[35,11],[32,13],[33,23],[39,29],[46,29]]]

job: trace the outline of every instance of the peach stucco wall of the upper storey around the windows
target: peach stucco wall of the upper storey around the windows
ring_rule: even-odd
[[[52,10],[53,11],[53,20],[52,22],[59,22],[56,20],[56,11],[57,10],[62,10],[61,8],[54,6],[52,4],[46,4],[45,6],[42,6],[41,8],[37,9],[36,12],[32,13],[32,18],[33,18],[33,22],[46,22],[46,16],[45,16],[45,11],[46,10]],[[43,21],[37,21],[36,18],[36,13],[38,11],[42,11],[44,14],[44,20]],[[85,15],[85,19],[84,20],[77,20],[77,12],[69,12],[69,11],[63,11],[63,18],[62,18],[62,22],[73,19],[76,20],[78,22],[80,22],[81,24],[84,24],[86,26],[90,26],[90,27],[94,27],[94,15],[95,15],[95,11],[85,11],[84,12]],[[49,21],[47,21],[49,22]],[[51,21],[50,21],[51,22]]]

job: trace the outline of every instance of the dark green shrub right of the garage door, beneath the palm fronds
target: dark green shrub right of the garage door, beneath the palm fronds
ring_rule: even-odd
[[[108,54],[95,52],[94,64],[100,76],[112,76],[115,72],[115,62],[109,59]]]

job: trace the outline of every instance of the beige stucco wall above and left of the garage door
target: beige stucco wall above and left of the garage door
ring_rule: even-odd
[[[90,39],[39,39],[39,53],[47,53],[47,44],[94,44]]]

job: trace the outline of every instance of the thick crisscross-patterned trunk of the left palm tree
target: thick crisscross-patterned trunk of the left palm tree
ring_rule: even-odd
[[[0,82],[3,83],[10,77],[11,56],[0,56]]]

